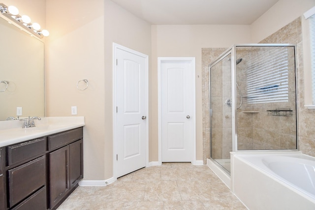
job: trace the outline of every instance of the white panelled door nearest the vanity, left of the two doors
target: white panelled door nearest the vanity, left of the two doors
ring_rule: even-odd
[[[116,49],[116,176],[146,166],[148,57]]]

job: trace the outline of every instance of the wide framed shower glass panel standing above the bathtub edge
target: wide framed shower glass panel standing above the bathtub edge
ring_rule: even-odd
[[[237,150],[296,150],[294,46],[236,46]]]

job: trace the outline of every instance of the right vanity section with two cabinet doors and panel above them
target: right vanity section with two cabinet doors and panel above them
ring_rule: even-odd
[[[49,136],[48,144],[59,148],[49,153],[49,208],[56,209],[83,178],[83,129]]]

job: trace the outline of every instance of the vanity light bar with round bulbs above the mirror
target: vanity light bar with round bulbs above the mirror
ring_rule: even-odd
[[[16,7],[15,7],[16,8]],[[22,18],[22,16],[21,15],[19,15],[19,14],[11,14],[10,12],[9,12],[9,9],[8,9],[8,7],[5,5],[5,4],[3,4],[3,3],[0,3],[0,13],[4,16],[4,17],[6,17],[7,18],[7,20],[9,20],[9,21],[11,21],[11,22],[13,22],[13,23],[15,23],[16,25],[18,25],[19,27],[21,27],[22,29],[24,29],[24,30],[27,30],[28,32],[30,32],[30,33],[32,33],[32,35],[35,35],[35,36],[37,36],[38,38],[43,38],[44,36],[43,36],[43,34],[45,35],[45,34],[49,34],[49,32],[47,31],[47,30],[43,30],[43,31],[47,31],[47,33],[43,33],[42,32],[42,30],[40,30],[40,29],[38,29],[38,30],[35,30],[35,29],[33,29],[33,27],[32,27],[32,23],[24,23],[23,22],[23,18]],[[31,20],[31,19],[30,19]],[[38,25],[38,24],[37,24]],[[39,26],[39,25],[38,25]],[[40,26],[39,26],[40,27]]]

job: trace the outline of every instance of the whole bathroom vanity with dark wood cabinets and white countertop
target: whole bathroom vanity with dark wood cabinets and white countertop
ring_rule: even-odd
[[[0,130],[0,210],[57,209],[83,178],[83,125]]]

